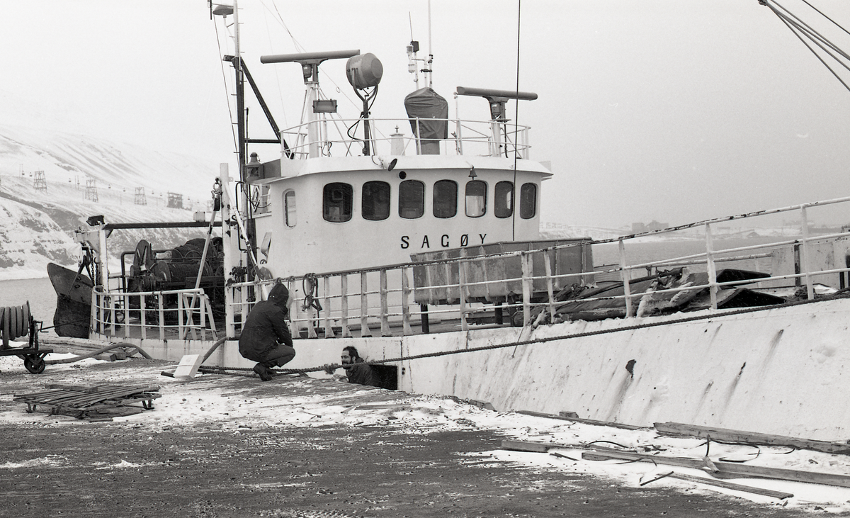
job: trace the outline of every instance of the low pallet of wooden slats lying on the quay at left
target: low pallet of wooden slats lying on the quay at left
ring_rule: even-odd
[[[150,385],[59,385],[48,384],[44,392],[16,394],[12,401],[26,403],[26,412],[69,415],[89,421],[142,413],[153,408],[159,387]],[[141,406],[136,406],[140,403]]]

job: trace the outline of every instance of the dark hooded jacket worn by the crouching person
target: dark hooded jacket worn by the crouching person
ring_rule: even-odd
[[[286,326],[286,300],[289,290],[277,284],[269,292],[269,299],[258,302],[248,313],[239,337],[239,353],[252,361],[264,361],[266,353],[277,344],[292,347],[292,334]]]

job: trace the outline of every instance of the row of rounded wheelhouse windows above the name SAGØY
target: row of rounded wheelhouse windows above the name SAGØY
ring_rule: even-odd
[[[390,213],[390,185],[371,181],[363,184],[360,195],[360,213],[363,219],[380,221]],[[441,179],[433,184],[433,216],[453,218],[457,215],[458,185],[456,181]],[[513,182],[497,182],[494,187],[493,214],[496,218],[513,216]],[[487,184],[481,180],[468,181],[464,187],[464,212],[470,218],[480,218],[487,213]],[[326,184],[322,196],[322,216],[326,221],[343,223],[352,216],[354,189],[343,182]],[[286,225],[294,226],[295,193],[288,191],[284,197]],[[537,185],[523,184],[519,188],[519,217],[531,219],[537,213]],[[408,179],[399,184],[399,217],[417,219],[425,215],[425,184]]]

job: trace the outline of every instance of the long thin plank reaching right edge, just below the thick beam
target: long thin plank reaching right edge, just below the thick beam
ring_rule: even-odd
[[[639,460],[653,462],[655,464],[667,464],[683,466],[702,470],[705,465],[700,458],[678,458],[662,455],[646,455],[643,453],[623,452],[608,448],[595,448],[594,452],[582,453],[582,458],[588,460]],[[819,473],[816,471],[787,470],[785,468],[768,468],[766,466],[754,466],[750,464],[737,464],[730,462],[714,463],[717,467],[717,476],[722,478],[769,478],[780,481],[808,482],[810,484],[825,484],[827,486],[850,487],[850,476],[835,475],[831,473]]]

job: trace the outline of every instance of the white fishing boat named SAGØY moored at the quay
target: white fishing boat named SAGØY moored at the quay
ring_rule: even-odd
[[[235,18],[237,33],[238,13],[211,4],[212,15]],[[231,180],[221,165],[212,217],[185,224],[206,237],[190,252],[141,242],[119,254],[108,236],[129,226],[94,219],[81,228],[92,266],[88,339],[249,369],[236,343],[241,322],[282,282],[297,350],[287,369],[327,375],[354,345],[387,388],[497,410],[847,436],[834,387],[850,361],[850,232],[813,235],[807,218],[850,197],[607,240],[547,239],[540,203],[552,174],[533,159],[529,128],[508,117],[536,94],[459,86],[456,100],[484,118],[450,117],[426,72],[404,100],[407,117],[383,119],[373,116],[383,102],[377,56],[264,55],[262,65],[303,71],[304,120],[281,130],[236,48],[224,60],[235,71],[239,167]],[[417,70],[418,44],[407,51]],[[321,94],[319,65],[337,60],[363,103],[354,120]],[[274,138],[248,137],[246,86]],[[249,152],[259,144],[279,145],[280,156],[261,162]],[[783,213],[801,219],[799,236],[717,248],[718,226]],[[628,261],[632,242],[694,229],[700,253]],[[617,261],[594,264],[606,244]],[[120,274],[111,254],[122,258]]]

